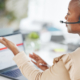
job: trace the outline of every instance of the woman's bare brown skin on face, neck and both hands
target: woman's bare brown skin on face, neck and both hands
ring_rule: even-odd
[[[76,3],[77,1],[78,0],[71,0],[69,3],[68,13],[65,16],[67,22],[77,22],[79,20],[80,10],[78,4]],[[66,27],[69,33],[80,34],[80,24],[67,24]],[[14,43],[12,43],[11,41],[7,40],[4,37],[0,39],[0,43],[8,47],[13,52],[14,55],[17,55],[20,52]],[[36,62],[34,62],[33,60],[31,61],[43,71],[48,69],[47,63],[35,53],[29,54],[29,57],[35,60]],[[46,66],[39,65],[39,63],[42,63],[43,65]]]

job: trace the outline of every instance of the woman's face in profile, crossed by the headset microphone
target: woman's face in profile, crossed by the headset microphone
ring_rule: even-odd
[[[80,10],[77,0],[71,0],[68,7],[68,13],[65,16],[67,22],[79,21]],[[80,33],[80,24],[66,24],[69,33]]]

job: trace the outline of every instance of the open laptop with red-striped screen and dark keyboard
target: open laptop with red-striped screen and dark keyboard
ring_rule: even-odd
[[[15,43],[20,51],[24,51],[23,38],[21,33],[10,34],[3,37]],[[13,57],[13,53],[3,44],[0,44],[0,74],[8,78],[10,77],[12,80],[27,80],[21,74],[16,63],[13,61]]]

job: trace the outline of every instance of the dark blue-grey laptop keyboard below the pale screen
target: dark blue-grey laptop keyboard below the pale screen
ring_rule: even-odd
[[[15,78],[22,75],[19,69],[8,71],[8,72],[3,72],[2,74],[9,76],[9,77],[15,77]]]

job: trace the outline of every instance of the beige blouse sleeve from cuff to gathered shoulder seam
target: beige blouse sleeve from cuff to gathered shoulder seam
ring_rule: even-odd
[[[24,52],[18,53],[13,60],[28,80],[70,80],[71,60],[68,55],[54,59],[49,69],[41,72],[36,69]]]

